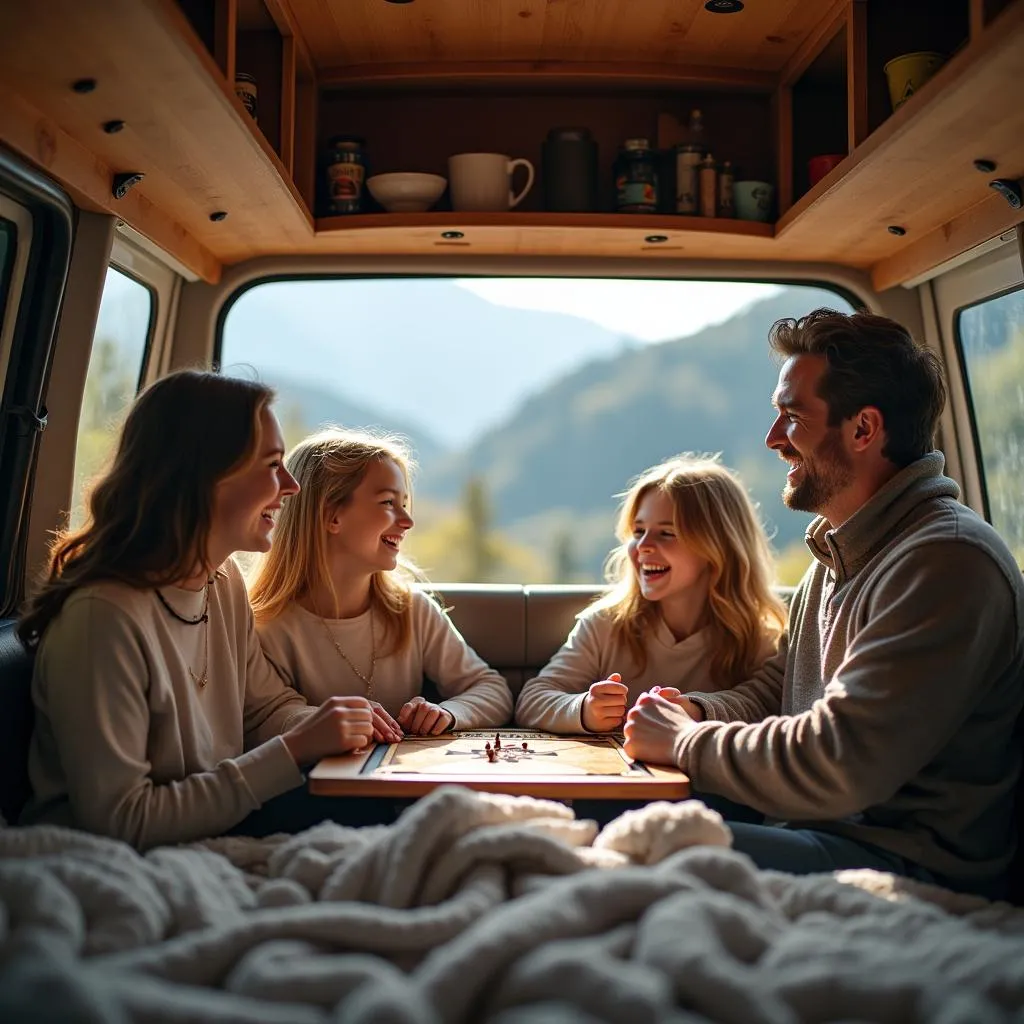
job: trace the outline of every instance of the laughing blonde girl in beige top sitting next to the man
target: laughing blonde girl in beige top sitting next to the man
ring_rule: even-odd
[[[611,732],[645,690],[726,689],[775,652],[785,609],[755,508],[717,457],[684,454],[626,492],[610,591],[523,687],[516,722]]]

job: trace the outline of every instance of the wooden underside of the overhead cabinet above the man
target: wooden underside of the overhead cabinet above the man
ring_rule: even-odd
[[[993,218],[988,187],[993,177],[1024,176],[1024,114],[1007,88],[1019,78],[1022,51],[1024,3],[1017,3],[794,204],[776,224],[780,248],[836,262],[854,254],[885,289],[929,268],[899,254],[935,231],[945,232],[950,251],[937,258],[931,239],[919,250],[931,265],[1024,220],[1009,204]],[[977,159],[994,161],[996,171],[979,173]],[[972,221],[982,234],[974,241]],[[890,225],[905,233],[890,233]]]

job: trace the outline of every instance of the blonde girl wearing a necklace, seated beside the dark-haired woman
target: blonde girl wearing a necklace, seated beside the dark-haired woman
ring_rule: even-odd
[[[263,649],[282,676],[310,701],[369,699],[378,740],[506,724],[505,680],[415,586],[401,556],[414,525],[401,439],[333,427],[286,464],[301,490],[250,586]],[[439,702],[422,695],[425,678]]]

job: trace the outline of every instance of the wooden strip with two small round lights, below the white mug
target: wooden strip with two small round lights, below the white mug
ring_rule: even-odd
[[[462,238],[443,238],[458,232]],[[745,259],[770,255],[771,224],[629,213],[371,213],[316,221],[316,252],[423,255],[668,256]],[[665,242],[650,242],[665,238]]]

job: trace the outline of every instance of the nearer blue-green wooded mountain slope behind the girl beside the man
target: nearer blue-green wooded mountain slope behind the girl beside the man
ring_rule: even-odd
[[[784,471],[763,444],[778,376],[767,336],[774,321],[802,315],[815,302],[835,304],[836,296],[783,292],[689,337],[594,359],[442,459],[421,478],[421,494],[457,501],[476,475],[486,483],[496,522],[513,534],[558,510],[589,536],[600,515],[610,531],[613,496],[646,467],[682,451],[721,452],[784,547],[810,517],[782,505]],[[604,551],[589,550],[588,563]]]

